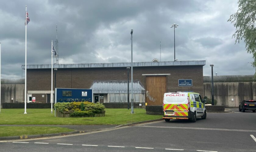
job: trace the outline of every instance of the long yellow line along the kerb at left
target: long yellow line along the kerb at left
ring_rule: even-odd
[[[13,142],[13,141],[30,141],[30,140],[42,140],[42,139],[64,138],[64,137],[70,137],[70,136],[87,135],[87,134],[91,134],[91,133],[101,133],[101,132],[105,132],[105,131],[118,130],[118,129],[128,128],[128,127],[130,127],[130,126],[124,126],[124,127],[119,127],[119,128],[111,128],[111,129],[106,129],[106,130],[98,130],[98,131],[92,131],[92,132],[87,132],[87,133],[79,133],[79,134],[73,134],[73,135],[65,135],[65,136],[54,136],[54,137],[44,137],[44,138],[34,138],[34,139],[22,139],[22,140],[4,140],[4,141],[0,141],[0,143]]]

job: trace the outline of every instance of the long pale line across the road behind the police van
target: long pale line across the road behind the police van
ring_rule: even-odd
[[[136,126],[136,127],[173,128],[173,129],[196,129],[196,130],[218,130],[218,131],[239,131],[239,132],[256,132],[256,130],[222,129],[222,128],[166,127],[166,126]]]

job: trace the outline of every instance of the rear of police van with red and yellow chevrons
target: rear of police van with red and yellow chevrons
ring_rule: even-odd
[[[188,116],[188,95],[186,92],[165,93],[163,109],[165,116]]]

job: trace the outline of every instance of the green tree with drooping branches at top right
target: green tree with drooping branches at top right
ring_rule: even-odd
[[[238,10],[229,18],[229,22],[236,27],[232,38],[236,38],[235,44],[244,39],[247,53],[253,54],[252,66],[256,68],[256,0],[238,0]],[[256,78],[256,73],[254,74]]]

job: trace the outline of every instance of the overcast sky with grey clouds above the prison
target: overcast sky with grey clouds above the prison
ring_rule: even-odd
[[[51,64],[51,40],[58,25],[59,64],[206,60],[204,75],[251,75],[252,55],[235,44],[227,22],[236,0],[2,0],[2,78],[24,78],[25,5],[27,64]],[[56,62],[56,59],[54,59]],[[23,71],[23,76],[22,76]]]

